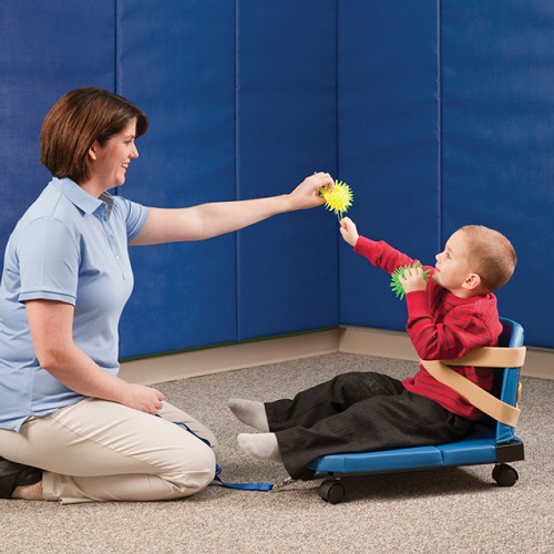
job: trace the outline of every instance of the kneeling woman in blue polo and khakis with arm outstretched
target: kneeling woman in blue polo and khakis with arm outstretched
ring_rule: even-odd
[[[117,377],[127,245],[237,230],[318,206],[334,185],[318,173],[288,195],[181,209],[111,196],[147,127],[138,107],[95,88],[70,92],[44,120],[40,162],[53,179],[9,239],[0,287],[0,497],[150,501],[207,486],[213,433]]]

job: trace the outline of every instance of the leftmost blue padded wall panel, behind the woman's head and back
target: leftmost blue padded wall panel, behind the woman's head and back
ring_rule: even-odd
[[[40,129],[72,89],[113,89],[114,3],[0,2],[0,245],[51,179],[39,165]]]

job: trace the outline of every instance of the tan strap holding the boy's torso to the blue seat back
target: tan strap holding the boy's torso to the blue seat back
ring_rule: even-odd
[[[472,350],[456,360],[421,360],[421,363],[439,382],[454,389],[483,413],[501,423],[515,427],[521,411],[517,407],[499,400],[462,375],[450,369],[447,363],[450,366],[520,368],[525,361],[525,347],[483,347]]]

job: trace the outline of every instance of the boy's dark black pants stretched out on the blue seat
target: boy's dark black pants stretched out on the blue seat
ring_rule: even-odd
[[[324,454],[443,444],[472,429],[471,421],[376,372],[343,373],[265,408],[294,479]]]

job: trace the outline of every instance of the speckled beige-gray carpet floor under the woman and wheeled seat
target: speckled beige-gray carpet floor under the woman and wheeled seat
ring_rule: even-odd
[[[153,360],[155,363],[155,360]],[[337,373],[375,370],[403,378],[414,362],[332,353],[161,383],[167,399],[219,438],[223,479],[280,482],[281,465],[244,454],[248,428],[232,397],[274,400]],[[517,434],[520,481],[500,488],[492,465],[347,478],[328,504],[320,481],[280,492],[211,485],[187,500],[151,503],[0,501],[0,553],[552,553],[554,552],[554,380],[523,377]]]

